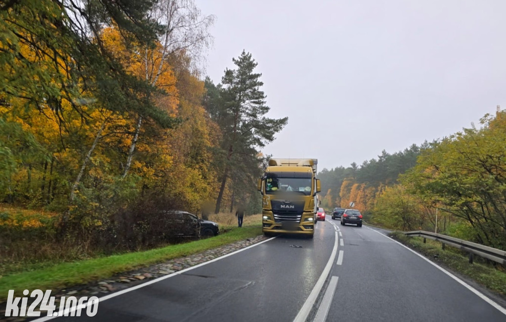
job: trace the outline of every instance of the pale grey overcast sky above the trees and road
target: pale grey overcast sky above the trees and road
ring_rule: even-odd
[[[288,125],[263,149],[348,167],[470,128],[506,108],[504,0],[195,0],[219,83],[244,49],[269,117]]]

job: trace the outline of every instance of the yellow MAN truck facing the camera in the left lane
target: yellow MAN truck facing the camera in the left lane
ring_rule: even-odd
[[[262,194],[262,231],[302,234],[313,238],[318,210],[320,180],[316,178],[317,159],[269,160],[258,180]]]

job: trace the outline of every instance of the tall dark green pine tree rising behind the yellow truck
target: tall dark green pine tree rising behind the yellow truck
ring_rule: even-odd
[[[221,84],[215,87],[209,81],[206,82],[208,93],[212,95],[208,97],[206,107],[220,125],[223,134],[221,148],[224,166],[219,178],[221,185],[216,200],[216,213],[220,211],[227,180],[231,176],[251,179],[252,174],[260,169],[257,149],[272,142],[274,135],[288,122],[288,117],[274,119],[265,116],[270,107],[266,105],[266,96],[261,90],[264,85],[260,81],[262,74],[255,72],[258,63],[252,59],[251,54],[243,50],[232,61],[237,68],[227,68]],[[217,91],[219,95],[216,95]],[[243,167],[244,165],[248,167]],[[252,173],[248,176],[244,175],[244,171]],[[234,183],[239,184],[238,180],[234,180]]]

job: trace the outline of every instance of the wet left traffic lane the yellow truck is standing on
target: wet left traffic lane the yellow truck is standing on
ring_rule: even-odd
[[[319,222],[313,239],[279,236],[99,304],[79,321],[292,321],[334,244]]]

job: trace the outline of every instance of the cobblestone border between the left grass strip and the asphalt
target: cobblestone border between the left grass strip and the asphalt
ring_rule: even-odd
[[[266,239],[268,239],[268,237],[260,235],[255,238],[239,240],[238,242],[210,249],[201,253],[175,258],[163,263],[153,264],[136,270],[116,274],[107,279],[94,280],[90,281],[88,284],[73,286],[62,290],[53,290],[51,295],[56,297],[55,304],[57,307],[60,303],[59,299],[62,296],[75,296],[77,299],[82,296],[97,296],[100,298],[107,294],[143,284],[150,279],[172,274],[185,268],[205,263],[207,261],[230,254],[250,245],[260,243]],[[5,302],[0,303],[0,321],[21,322],[34,319],[33,317],[6,318],[5,306]]]

